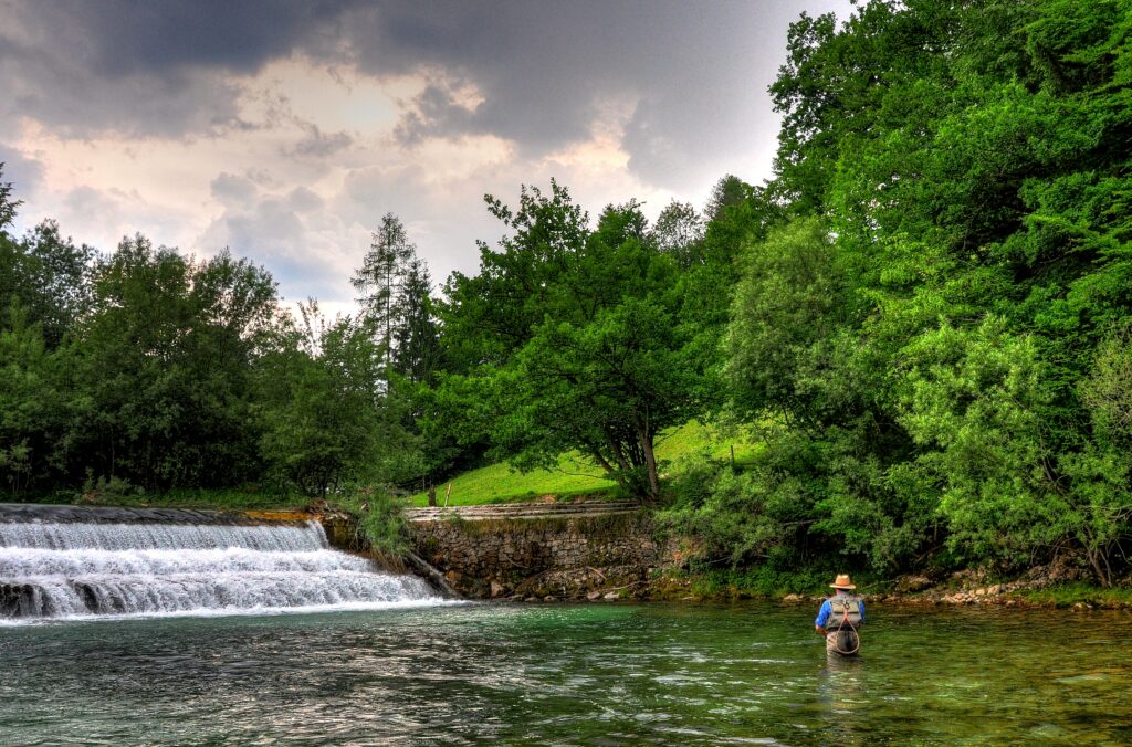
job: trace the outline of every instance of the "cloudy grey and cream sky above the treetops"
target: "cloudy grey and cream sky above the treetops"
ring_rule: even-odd
[[[267,267],[352,307],[386,213],[439,284],[551,178],[597,216],[771,175],[767,86],[803,11],[848,0],[0,0],[0,162],[76,242]]]

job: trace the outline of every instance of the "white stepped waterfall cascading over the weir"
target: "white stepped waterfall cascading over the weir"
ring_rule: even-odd
[[[50,515],[5,518],[0,514],[0,619],[440,601],[420,578],[332,549],[317,522],[114,523],[82,513],[66,523]],[[160,520],[170,521],[169,513]]]

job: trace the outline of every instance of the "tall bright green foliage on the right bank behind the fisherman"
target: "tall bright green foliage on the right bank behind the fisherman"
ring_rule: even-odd
[[[724,372],[765,445],[675,479],[705,557],[1126,567],[1130,34],[1061,0],[795,24],[766,190],[822,218],[745,237]]]

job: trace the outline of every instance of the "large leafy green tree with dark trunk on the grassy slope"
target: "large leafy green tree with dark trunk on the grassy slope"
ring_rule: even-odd
[[[481,250],[479,276],[449,281],[448,343],[482,351],[469,375],[441,385],[454,418],[474,423],[456,430],[486,430],[524,469],[577,449],[626,492],[655,501],[657,436],[701,406],[676,263],[652,242],[635,200],[608,206],[592,233],[557,183],[549,198],[524,189],[517,213],[489,207],[516,234],[501,251]],[[484,327],[514,345],[501,349]]]

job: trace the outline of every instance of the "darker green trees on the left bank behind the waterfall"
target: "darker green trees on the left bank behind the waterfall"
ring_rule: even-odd
[[[45,222],[0,234],[0,480],[15,498],[84,481],[121,500],[257,481],[325,495],[422,469],[369,333],[343,320],[303,335],[267,272],[226,251],[196,261],[135,237],[94,258]]]

